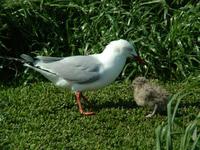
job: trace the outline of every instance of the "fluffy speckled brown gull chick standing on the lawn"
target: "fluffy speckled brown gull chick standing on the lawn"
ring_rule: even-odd
[[[145,77],[137,77],[132,82],[134,100],[139,106],[150,107],[153,112],[146,117],[152,117],[156,112],[167,109],[168,92],[158,85],[149,83]]]

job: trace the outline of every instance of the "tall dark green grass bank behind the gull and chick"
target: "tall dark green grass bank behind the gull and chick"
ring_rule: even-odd
[[[197,1],[11,1],[0,2],[0,55],[69,56],[98,53],[112,40],[132,42],[147,62],[131,61],[137,74],[183,80],[199,70]],[[19,64],[0,60],[1,76],[22,77]],[[8,76],[8,77],[9,77]],[[31,76],[31,75],[30,75]],[[26,79],[26,78],[24,78]]]

